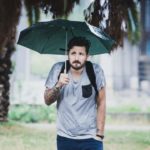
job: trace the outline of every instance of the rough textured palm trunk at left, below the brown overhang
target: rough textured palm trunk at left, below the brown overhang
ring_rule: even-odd
[[[5,54],[0,58],[0,122],[7,121],[9,110],[9,75],[11,74],[11,55],[14,51],[14,39],[5,46]]]

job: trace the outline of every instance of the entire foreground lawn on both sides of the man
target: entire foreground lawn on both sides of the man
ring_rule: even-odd
[[[56,129],[34,128],[20,123],[0,124],[0,149],[3,150],[56,150]],[[106,131],[105,150],[149,150],[148,131]]]

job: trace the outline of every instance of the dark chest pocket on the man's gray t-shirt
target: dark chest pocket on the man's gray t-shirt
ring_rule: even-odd
[[[82,96],[84,98],[88,98],[92,95],[92,85],[88,84],[88,85],[83,85],[82,86]]]

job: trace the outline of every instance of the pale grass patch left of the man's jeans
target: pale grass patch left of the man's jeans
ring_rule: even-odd
[[[21,124],[0,125],[0,149],[2,150],[54,150],[55,131],[33,129]]]

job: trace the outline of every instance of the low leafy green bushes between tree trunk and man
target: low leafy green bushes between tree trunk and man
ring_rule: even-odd
[[[55,122],[55,105],[47,107],[43,105],[13,105],[10,107],[10,120],[20,122]]]

